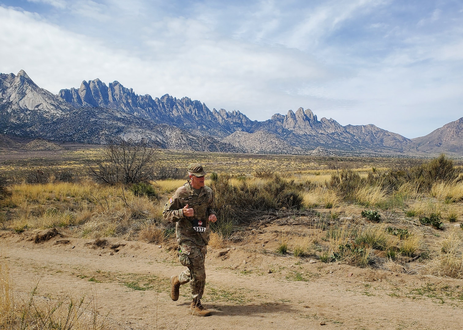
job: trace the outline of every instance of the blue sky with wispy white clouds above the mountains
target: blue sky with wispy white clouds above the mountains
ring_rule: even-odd
[[[461,0],[0,0],[0,72],[414,138],[463,117]]]

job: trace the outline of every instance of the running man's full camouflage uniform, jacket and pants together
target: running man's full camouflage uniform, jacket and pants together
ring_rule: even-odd
[[[183,207],[194,209],[194,215],[183,215]],[[199,194],[194,192],[190,183],[185,183],[178,188],[174,196],[164,206],[163,218],[170,222],[176,222],[175,232],[179,244],[179,261],[188,267],[179,276],[180,284],[190,282],[191,298],[199,302],[204,292],[206,283],[206,245],[209,243],[210,214],[215,214],[212,189],[204,186]]]

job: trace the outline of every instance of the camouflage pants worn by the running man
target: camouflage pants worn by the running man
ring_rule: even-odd
[[[180,273],[178,279],[180,284],[190,282],[191,299],[194,302],[200,301],[204,293],[206,284],[206,269],[204,261],[206,260],[206,245],[196,245],[189,242],[180,244],[181,252],[178,259],[183,266],[188,267]]]

